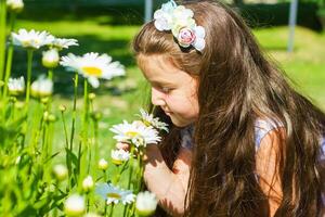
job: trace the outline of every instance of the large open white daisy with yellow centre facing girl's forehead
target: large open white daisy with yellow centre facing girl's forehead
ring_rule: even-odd
[[[69,53],[67,56],[63,56],[60,63],[68,69],[81,74],[93,88],[100,86],[99,78],[109,80],[126,74],[125,67],[119,62],[112,62],[112,58],[107,54],[86,53],[77,56]]]

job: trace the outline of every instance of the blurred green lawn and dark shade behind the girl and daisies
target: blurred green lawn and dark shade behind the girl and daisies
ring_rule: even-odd
[[[161,1],[155,1],[158,5]],[[262,49],[285,69],[295,88],[325,110],[325,33],[322,31],[322,1],[300,2],[298,27],[295,36],[295,50],[287,53],[289,2],[229,2],[239,11],[253,27]],[[107,53],[114,61],[126,66],[127,76],[112,81],[103,81],[96,93],[94,107],[103,113],[100,124],[101,145],[113,145],[108,128],[122,119],[134,119],[139,107],[148,101],[148,88],[131,52],[131,41],[143,23],[143,1],[25,1],[25,10],[17,17],[15,29],[48,30],[56,37],[76,38],[79,47],[72,47],[67,52],[83,54],[87,52]],[[40,63],[41,52],[34,59],[34,78],[46,74]],[[16,49],[14,52],[13,74],[24,75],[26,53]],[[54,108],[64,104],[70,111],[73,106],[73,74],[58,67],[54,71]],[[79,89],[82,106],[82,87]],[[72,117],[66,114],[67,122]],[[61,131],[58,120],[55,128]],[[55,137],[57,148],[63,146],[63,137]],[[103,149],[101,155],[106,155]]]

